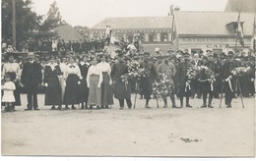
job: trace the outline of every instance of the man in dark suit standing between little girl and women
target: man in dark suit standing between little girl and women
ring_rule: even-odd
[[[37,88],[42,81],[41,66],[34,61],[33,53],[28,55],[29,61],[24,64],[22,83],[28,92],[28,106],[25,111],[39,110],[37,105]]]

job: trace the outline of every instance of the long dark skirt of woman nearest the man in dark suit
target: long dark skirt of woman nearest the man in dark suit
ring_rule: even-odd
[[[59,78],[57,76],[48,78],[44,105],[61,105],[61,88]]]

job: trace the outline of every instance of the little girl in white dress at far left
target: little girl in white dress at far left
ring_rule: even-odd
[[[12,103],[15,102],[14,90],[16,89],[16,86],[10,79],[10,76],[6,75],[4,85],[2,85],[2,90],[4,90],[2,102],[5,103],[5,112],[12,112]]]

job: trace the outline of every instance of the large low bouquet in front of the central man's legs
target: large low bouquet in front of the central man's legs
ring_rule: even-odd
[[[160,80],[153,83],[153,94],[156,94],[157,98],[166,98],[173,92],[173,85],[173,81],[162,74]]]

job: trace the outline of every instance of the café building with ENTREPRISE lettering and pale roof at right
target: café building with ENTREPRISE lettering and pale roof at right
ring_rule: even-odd
[[[217,53],[234,51],[237,27],[237,12],[183,12],[174,13],[176,48],[188,49],[190,52],[206,51]],[[243,28],[244,47],[238,42],[236,49],[250,50],[253,32],[253,13],[241,13],[240,22]]]

